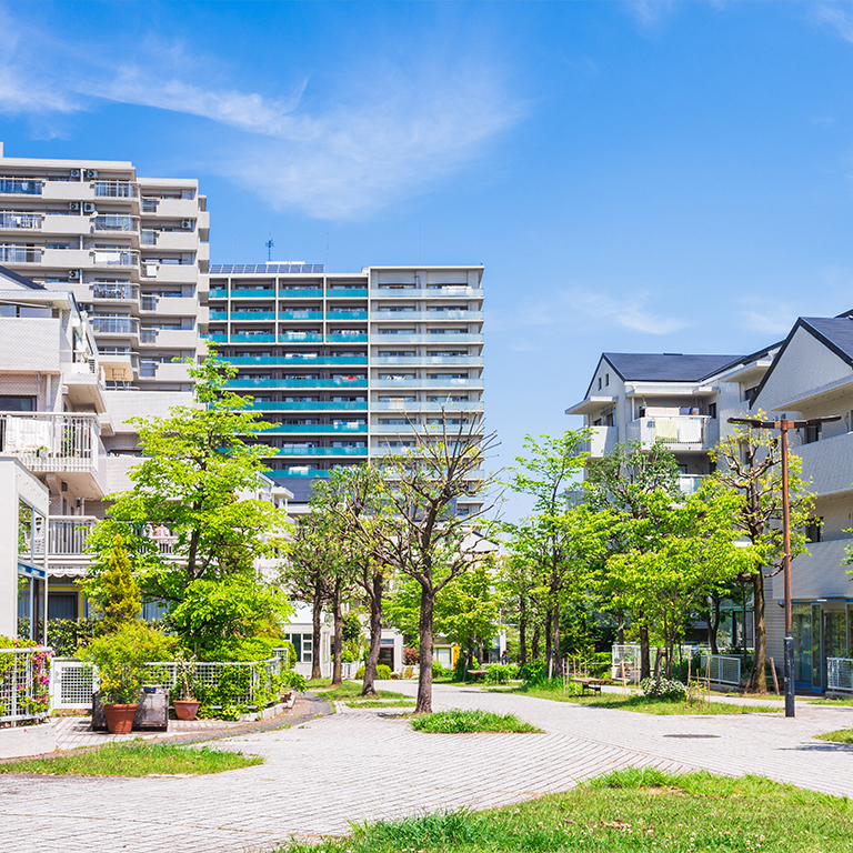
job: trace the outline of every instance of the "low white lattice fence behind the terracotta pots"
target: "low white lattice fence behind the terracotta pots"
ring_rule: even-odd
[[[229,691],[229,704],[257,706],[260,692],[288,669],[288,650],[275,649],[273,653],[275,656],[265,661],[200,662],[194,664],[194,676],[202,688],[224,686]],[[147,666],[145,684],[170,691],[174,688],[179,664],[163,661]],[[53,661],[50,685],[53,709],[89,708],[98,686],[98,670],[92,664],[71,658]]]

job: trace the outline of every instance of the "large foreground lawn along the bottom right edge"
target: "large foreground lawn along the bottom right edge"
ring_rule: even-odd
[[[624,770],[521,805],[359,826],[289,853],[836,853],[853,802],[759,776]],[[282,852],[283,853],[283,852]]]

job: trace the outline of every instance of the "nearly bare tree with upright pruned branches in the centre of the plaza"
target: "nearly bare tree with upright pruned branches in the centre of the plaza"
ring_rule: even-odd
[[[495,445],[495,436],[483,436],[475,421],[460,421],[451,430],[442,413],[436,430],[414,431],[412,451],[391,456],[381,471],[378,516],[363,521],[350,513],[353,530],[365,546],[372,543],[378,562],[420,584],[418,713],[432,710],[435,596],[493,548],[476,524],[492,504],[484,503],[476,513],[462,516],[455,512],[455,503],[490,489],[492,480],[475,479],[475,472]]]

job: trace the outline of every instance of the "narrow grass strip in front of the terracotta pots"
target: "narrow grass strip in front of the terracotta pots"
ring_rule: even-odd
[[[70,752],[50,759],[20,759],[0,764],[0,773],[38,773],[58,776],[150,776],[177,773],[200,775],[263,764],[258,755],[178,746],[171,743],[108,743],[89,752]]]

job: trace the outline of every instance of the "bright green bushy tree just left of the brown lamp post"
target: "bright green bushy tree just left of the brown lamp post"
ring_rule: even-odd
[[[632,544],[608,560],[614,603],[663,640],[668,679],[675,643],[692,613],[755,561],[751,548],[734,542],[741,502],[724,489],[709,488],[679,504],[658,491],[644,518],[622,522],[624,540]]]

